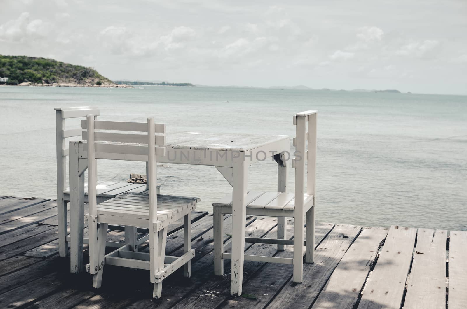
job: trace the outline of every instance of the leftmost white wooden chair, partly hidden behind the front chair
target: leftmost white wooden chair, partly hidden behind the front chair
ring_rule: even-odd
[[[58,204],[58,241],[59,253],[61,257],[68,255],[68,242],[70,237],[67,229],[67,210],[66,204],[70,202],[70,188],[66,188],[66,157],[69,155],[69,147],[66,143],[66,138],[80,136],[82,129],[66,128],[65,120],[71,118],[85,118],[88,114],[99,116],[99,109],[97,107],[79,106],[67,108],[55,108],[56,113],[56,137],[57,137],[57,204]],[[97,203],[104,202],[109,198],[116,197],[117,195],[132,191],[143,192],[147,190],[147,186],[141,184],[130,184],[127,182],[118,181],[104,181],[98,183],[98,190],[96,191]],[[160,186],[157,187],[157,193],[160,193]],[[88,201],[87,185],[85,186],[85,202]],[[111,226],[111,229],[122,229],[119,226]],[[134,232],[131,229],[125,230],[126,238],[132,237]],[[85,239],[85,243],[88,240]],[[119,243],[109,242],[109,246],[120,247]]]

